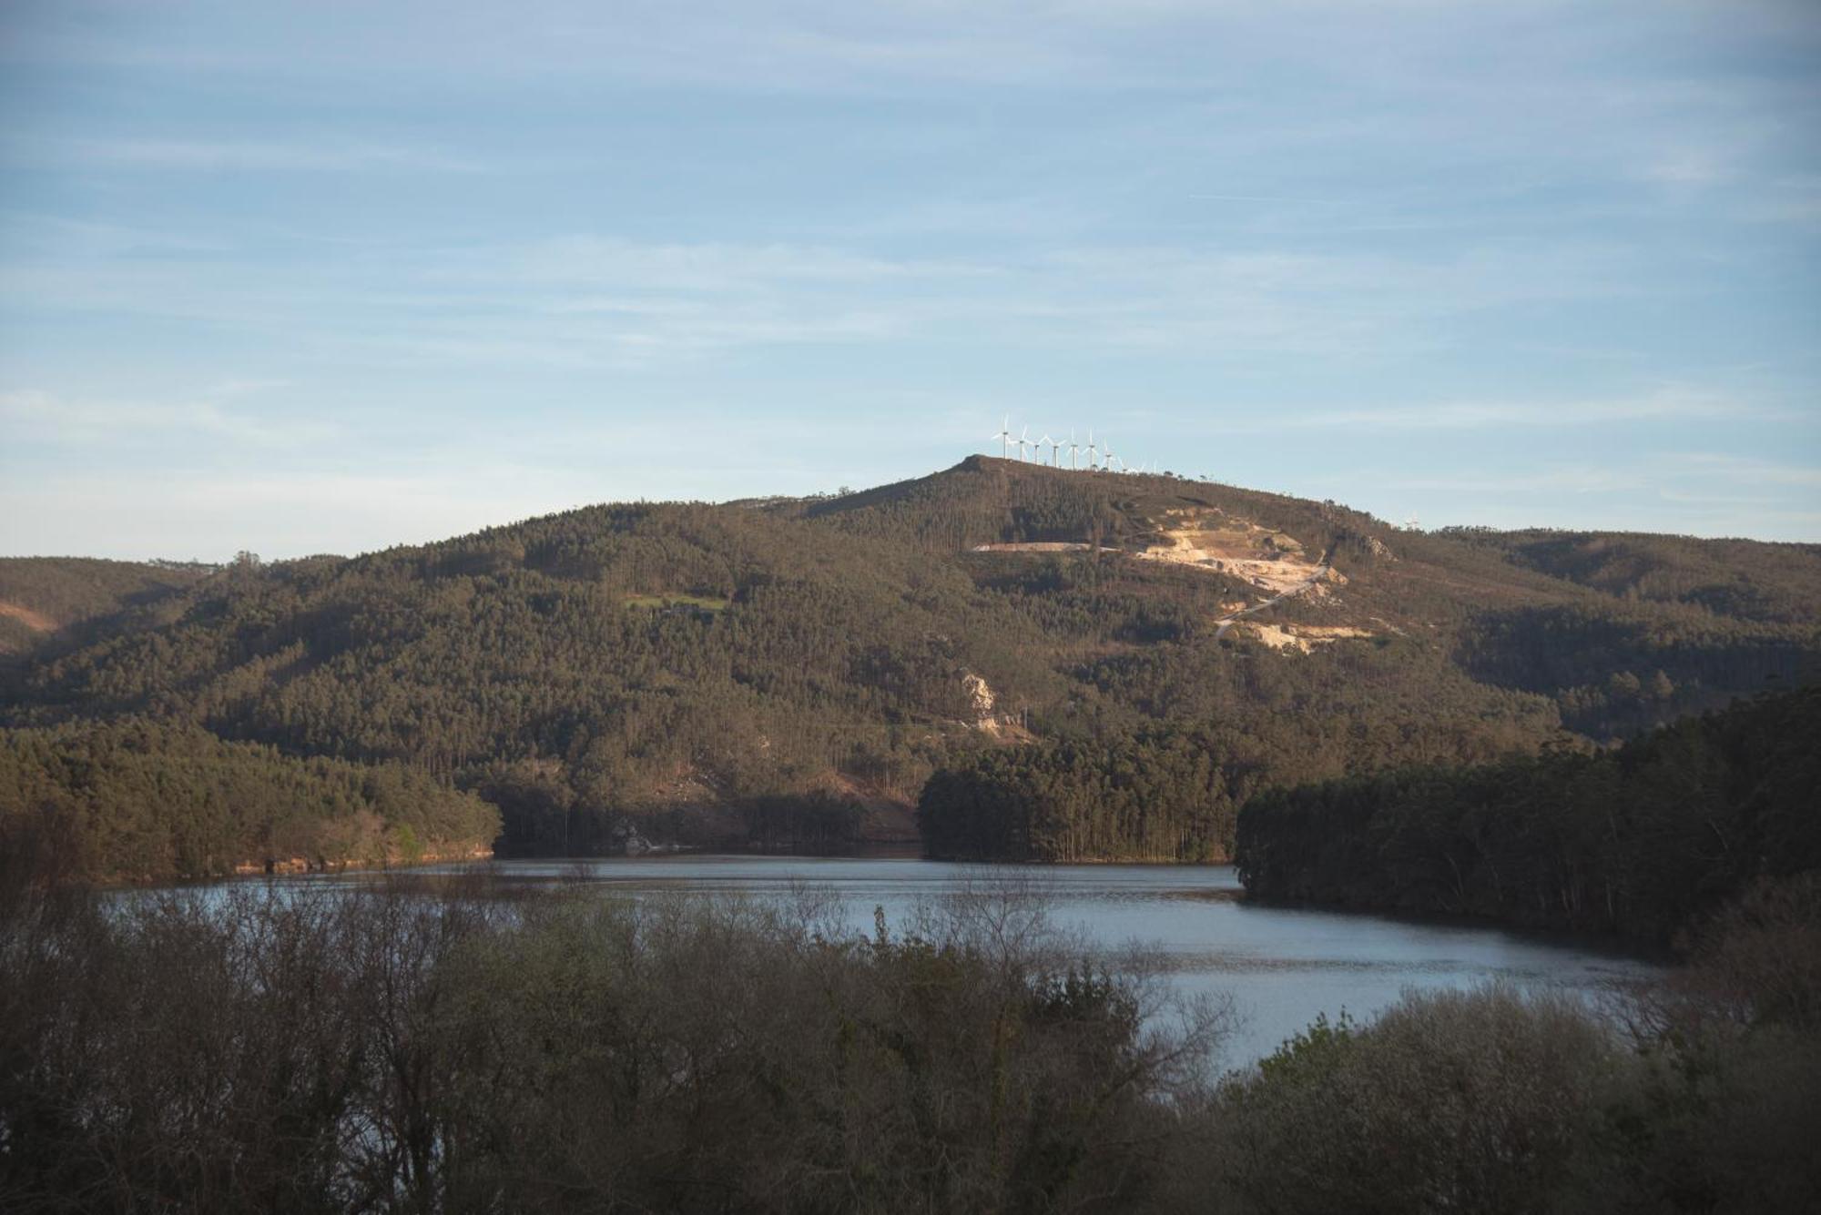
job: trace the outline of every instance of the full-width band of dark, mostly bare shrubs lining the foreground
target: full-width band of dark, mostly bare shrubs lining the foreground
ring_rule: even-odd
[[[1821,886],[1624,1031],[1411,995],[1211,1073],[1218,1006],[978,891],[834,908],[484,880],[0,888],[7,1211],[1755,1215],[1821,1202]]]

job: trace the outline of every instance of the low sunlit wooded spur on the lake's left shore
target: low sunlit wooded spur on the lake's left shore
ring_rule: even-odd
[[[472,857],[497,833],[497,809],[402,764],[146,720],[0,729],[0,853],[64,880]]]

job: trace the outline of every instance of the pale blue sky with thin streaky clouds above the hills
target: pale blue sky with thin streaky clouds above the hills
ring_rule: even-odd
[[[4,555],[827,493],[1007,417],[1816,542],[1817,338],[1812,0],[0,0]]]

